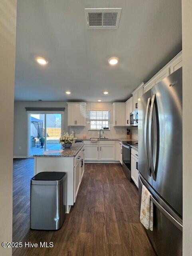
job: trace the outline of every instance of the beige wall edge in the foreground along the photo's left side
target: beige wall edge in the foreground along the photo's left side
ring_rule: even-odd
[[[0,255],[12,250],[13,114],[16,44],[16,1],[0,1]]]

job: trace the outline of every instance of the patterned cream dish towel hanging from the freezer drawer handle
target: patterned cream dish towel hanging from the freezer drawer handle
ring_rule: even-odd
[[[153,202],[150,199],[150,192],[142,186],[140,220],[148,230],[153,230]]]

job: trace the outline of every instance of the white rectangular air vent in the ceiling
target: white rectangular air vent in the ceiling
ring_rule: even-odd
[[[85,8],[88,29],[117,29],[122,8]]]

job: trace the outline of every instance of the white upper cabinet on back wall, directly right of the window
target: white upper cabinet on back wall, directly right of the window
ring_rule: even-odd
[[[113,103],[113,126],[125,126],[125,102]]]

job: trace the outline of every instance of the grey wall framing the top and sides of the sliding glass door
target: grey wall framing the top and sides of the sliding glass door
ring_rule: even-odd
[[[15,102],[14,103],[14,156],[27,156],[27,111],[26,107],[65,108],[63,130],[67,131],[67,104],[65,102]],[[21,147],[21,149],[19,149]]]

